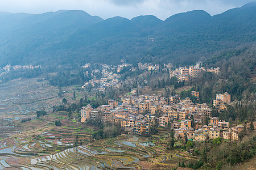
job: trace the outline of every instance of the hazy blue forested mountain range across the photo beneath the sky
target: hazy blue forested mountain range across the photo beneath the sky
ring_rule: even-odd
[[[256,2],[210,16],[189,11],[160,20],[101,19],[84,11],[0,13],[0,66],[134,63],[147,53],[177,65],[203,61],[256,41]]]

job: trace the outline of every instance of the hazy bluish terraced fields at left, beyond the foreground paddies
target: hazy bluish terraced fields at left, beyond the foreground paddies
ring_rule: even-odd
[[[38,79],[15,79],[0,84],[0,117],[34,114],[43,109],[50,111],[53,105],[61,104],[59,88],[49,86],[47,80],[38,82]],[[87,94],[80,86],[64,87],[62,90],[68,103],[76,102],[72,99],[74,90],[77,101]]]

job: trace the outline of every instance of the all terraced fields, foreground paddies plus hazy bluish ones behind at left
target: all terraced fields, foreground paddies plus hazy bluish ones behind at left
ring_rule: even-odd
[[[77,100],[86,94],[79,86],[63,90],[69,103],[76,102],[74,90]],[[157,136],[160,142],[129,135],[90,143],[96,129],[67,120],[67,113],[49,113],[20,123],[21,118],[35,117],[36,110],[49,111],[61,104],[58,92],[47,81],[37,79],[0,84],[0,117],[3,125],[9,126],[0,128],[0,169],[171,169],[192,158],[182,150],[166,151],[168,135],[164,130]],[[55,126],[56,120],[61,126]]]

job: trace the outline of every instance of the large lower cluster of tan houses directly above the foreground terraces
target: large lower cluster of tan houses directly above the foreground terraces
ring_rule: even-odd
[[[139,135],[150,134],[150,126],[155,124],[174,129],[176,138],[185,139],[187,136],[194,141],[218,137],[238,139],[243,126],[230,129],[229,122],[212,117],[211,113],[212,109],[207,104],[194,104],[189,97],[181,100],[176,95],[167,100],[160,95],[126,95],[122,97],[122,103],[109,100],[108,105],[97,109],[92,109],[91,105],[83,107],[81,122],[87,119],[114,122],[127,132]],[[205,118],[210,118],[210,123],[203,126]]]

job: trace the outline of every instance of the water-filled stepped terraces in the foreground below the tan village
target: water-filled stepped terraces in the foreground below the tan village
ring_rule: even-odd
[[[184,151],[165,151],[167,134],[158,136],[160,142],[128,135],[90,143],[93,129],[60,117],[50,114],[1,128],[0,169],[170,169],[191,159]],[[60,127],[55,120],[61,120]]]

